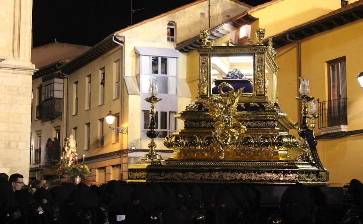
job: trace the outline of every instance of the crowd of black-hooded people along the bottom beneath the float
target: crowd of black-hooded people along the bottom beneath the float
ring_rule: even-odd
[[[258,190],[242,184],[111,180],[102,186],[65,182],[46,189],[37,182],[24,186],[12,176],[0,176],[1,224],[363,223],[363,184],[355,179],[344,207],[317,206],[309,188],[297,183],[286,188],[279,208],[271,211],[259,206]]]

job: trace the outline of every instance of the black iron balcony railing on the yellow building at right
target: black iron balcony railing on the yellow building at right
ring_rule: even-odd
[[[318,99],[318,115],[319,128],[348,125],[347,98]]]

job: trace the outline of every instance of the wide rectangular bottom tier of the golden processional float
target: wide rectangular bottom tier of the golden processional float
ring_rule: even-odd
[[[129,167],[129,182],[252,183],[325,186],[328,172],[308,162],[165,160]]]

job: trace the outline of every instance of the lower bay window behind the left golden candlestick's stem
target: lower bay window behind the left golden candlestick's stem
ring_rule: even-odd
[[[176,131],[175,111],[157,111],[155,114],[155,128],[159,132],[157,138],[165,138],[168,134]],[[142,110],[143,138],[147,138],[146,131],[149,129],[150,114],[148,110]]]

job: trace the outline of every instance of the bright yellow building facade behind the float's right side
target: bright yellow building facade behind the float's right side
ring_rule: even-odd
[[[296,41],[300,45],[300,76],[310,77],[310,95],[319,99],[317,105],[321,117],[315,130],[317,148],[323,165],[330,173],[330,186],[343,186],[353,178],[363,177],[360,171],[363,166],[360,159],[363,156],[360,147],[363,138],[359,135],[363,127],[360,115],[362,88],[357,80],[363,71],[363,42],[360,38],[362,4],[362,1],[349,1],[342,7],[338,0],[274,0],[248,10],[249,15],[257,19],[250,23],[251,33],[255,28],[265,28],[265,44],[271,37],[277,48],[276,62],[280,66],[277,73],[278,103],[293,122],[299,120],[300,113],[299,103],[295,99],[299,96]],[[231,44],[228,40],[229,34],[215,43]],[[250,40],[256,43],[254,34],[251,34]],[[250,42],[240,41],[239,44],[248,45]],[[338,67],[334,66],[339,66],[338,73],[335,69]],[[193,99],[198,95],[197,68],[198,53],[193,50],[187,54],[187,82]],[[337,78],[332,81],[333,73],[340,77],[340,81]],[[336,85],[340,87],[333,91]],[[336,106],[334,100],[340,106]],[[346,123],[340,119],[344,116]],[[295,130],[290,130],[290,134],[297,136]]]

